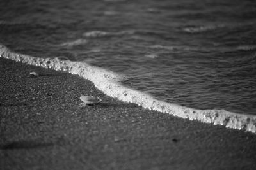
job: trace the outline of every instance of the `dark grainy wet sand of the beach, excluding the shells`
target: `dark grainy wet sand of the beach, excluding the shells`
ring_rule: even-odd
[[[250,132],[122,103],[68,73],[3,58],[0,70],[0,169],[256,168]],[[83,95],[102,103],[80,108]]]

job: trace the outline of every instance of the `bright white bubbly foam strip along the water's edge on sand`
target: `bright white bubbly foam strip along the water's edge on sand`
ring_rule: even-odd
[[[166,103],[159,101],[154,97],[140,92],[138,90],[129,89],[120,84],[122,76],[93,67],[84,62],[72,62],[70,60],[50,59],[31,57],[11,52],[5,46],[0,46],[0,56],[12,59],[17,62],[23,62],[44,68],[51,68],[57,71],[67,71],[71,74],[92,81],[97,89],[102,90],[106,95],[116,97],[121,101],[136,103],[143,108],[168,113],[177,117],[188,118],[189,120],[199,120],[200,122],[212,123],[214,125],[225,125],[225,127],[233,129],[243,129],[256,133],[256,116],[241,115],[225,110],[197,110],[178,104]]]

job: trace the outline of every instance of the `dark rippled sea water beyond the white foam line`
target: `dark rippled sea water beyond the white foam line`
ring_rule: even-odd
[[[256,115],[255,36],[255,1],[0,1],[15,52],[86,61],[199,109]]]

